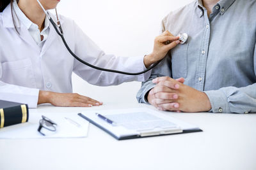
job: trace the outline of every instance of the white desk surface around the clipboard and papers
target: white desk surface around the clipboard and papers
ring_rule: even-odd
[[[38,106],[35,112],[150,107],[106,103],[97,108]],[[168,113],[204,132],[117,141],[90,125],[87,138],[1,139],[0,169],[256,169],[256,114]]]

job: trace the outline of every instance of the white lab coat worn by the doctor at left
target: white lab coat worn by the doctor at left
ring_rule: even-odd
[[[74,21],[60,18],[68,45],[83,60],[95,66],[132,73],[145,69],[143,56],[106,55]],[[9,5],[0,13],[0,100],[26,103],[29,108],[36,108],[39,90],[71,93],[73,71],[88,83],[99,86],[145,81],[150,76],[150,72],[139,76],[108,73],[81,64],[68,53],[51,24],[41,50],[28,29],[16,23],[19,34],[15,31]]]

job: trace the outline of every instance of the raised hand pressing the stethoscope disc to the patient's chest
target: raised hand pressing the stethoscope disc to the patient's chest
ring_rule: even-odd
[[[166,41],[169,41],[169,44],[166,45]],[[173,34],[171,34],[169,31],[164,31],[163,34],[156,37],[153,52],[149,55],[145,55],[145,66],[149,67],[151,64],[163,59],[168,51],[177,46],[179,43],[179,36],[173,36]]]

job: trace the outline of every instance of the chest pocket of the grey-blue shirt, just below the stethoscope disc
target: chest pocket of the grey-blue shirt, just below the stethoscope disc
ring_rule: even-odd
[[[177,45],[171,50],[172,77],[186,78],[188,74],[188,43]]]

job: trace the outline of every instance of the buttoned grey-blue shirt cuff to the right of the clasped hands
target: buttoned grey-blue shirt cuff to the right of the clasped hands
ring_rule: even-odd
[[[220,90],[205,91],[209,97],[213,113],[230,113],[227,96]]]

